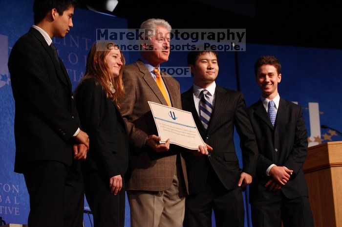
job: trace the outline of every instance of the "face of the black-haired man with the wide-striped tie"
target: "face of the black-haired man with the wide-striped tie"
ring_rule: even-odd
[[[199,55],[194,65],[189,65],[193,82],[201,88],[209,87],[218,75],[217,57],[212,52]]]

